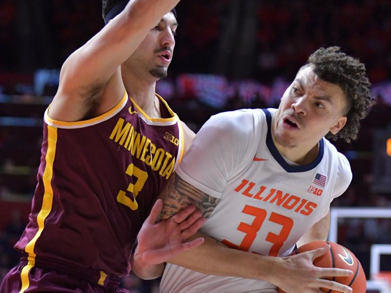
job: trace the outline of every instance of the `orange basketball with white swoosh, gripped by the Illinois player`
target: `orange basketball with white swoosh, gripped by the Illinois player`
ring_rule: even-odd
[[[326,247],[327,244],[330,245],[329,252],[316,258],[314,260],[314,265],[320,268],[339,268],[353,271],[353,275],[348,277],[334,277],[327,279],[333,279],[338,283],[348,285],[353,290],[353,293],[366,293],[367,278],[365,276],[363,267],[361,266],[357,257],[342,245],[330,241],[314,241],[299,247],[296,251],[292,252],[292,255],[304,251],[311,251],[314,249]],[[329,291],[328,289],[324,288],[320,289],[328,293],[340,293],[340,291]],[[286,292],[280,289],[279,293]]]

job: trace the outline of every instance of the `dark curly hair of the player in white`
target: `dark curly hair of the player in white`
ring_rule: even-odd
[[[337,46],[319,48],[311,54],[307,64],[315,65],[313,70],[322,80],[338,84],[348,99],[346,125],[335,135],[328,133],[326,138],[342,138],[348,143],[356,140],[360,121],[368,115],[369,108],[374,104],[365,65]]]

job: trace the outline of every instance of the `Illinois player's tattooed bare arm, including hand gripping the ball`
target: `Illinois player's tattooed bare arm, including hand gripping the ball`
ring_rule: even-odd
[[[162,218],[170,217],[189,204],[195,205],[207,218],[218,204],[218,199],[195,188],[176,174],[170,179],[162,196]],[[205,238],[203,244],[177,254],[169,262],[204,274],[269,281],[291,293],[302,293],[310,289],[317,292],[314,290],[319,287],[351,292],[348,286],[322,279],[326,276],[351,275],[351,271],[313,266],[313,260],[326,253],[328,247],[289,257],[270,257],[228,248],[200,232],[189,240],[200,236]]]

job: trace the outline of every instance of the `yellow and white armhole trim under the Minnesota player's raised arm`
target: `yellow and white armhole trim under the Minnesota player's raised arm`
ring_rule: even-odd
[[[48,125],[55,126],[58,128],[81,128],[81,127],[95,125],[100,122],[106,121],[106,120],[110,119],[112,116],[114,116],[115,114],[117,114],[125,106],[127,100],[128,100],[128,93],[125,92],[121,101],[114,108],[109,110],[108,112],[106,112],[98,117],[92,118],[92,119],[83,120],[83,121],[75,121],[75,122],[66,122],[66,121],[59,121],[59,120],[51,119],[48,115],[48,111],[49,111],[49,107],[50,107],[50,105],[49,105],[49,107],[45,111],[45,121]]]

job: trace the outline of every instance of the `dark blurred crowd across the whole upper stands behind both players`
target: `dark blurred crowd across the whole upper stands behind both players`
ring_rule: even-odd
[[[237,27],[230,37],[256,40],[253,62],[246,72],[254,79],[272,81],[292,77],[320,46],[339,45],[366,63],[372,83],[391,74],[391,2],[389,0],[249,0],[236,7]],[[103,26],[97,0],[2,0],[0,2],[0,82],[3,87],[20,78],[32,80],[38,68],[60,68],[66,57]],[[170,75],[181,72],[217,73],[216,60],[224,50],[234,66],[238,42],[221,49],[222,36],[234,21],[234,0],[179,2],[178,36]],[[247,30],[246,17],[256,17]],[[243,41],[244,42],[244,41]],[[239,55],[239,54],[238,54]],[[235,68],[234,68],[235,69]],[[232,70],[227,70],[230,78]],[[8,75],[8,76],[7,76]],[[16,76],[12,76],[16,75]],[[19,75],[19,76],[18,76]],[[7,91],[14,91],[9,88]]]

